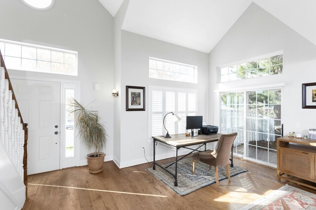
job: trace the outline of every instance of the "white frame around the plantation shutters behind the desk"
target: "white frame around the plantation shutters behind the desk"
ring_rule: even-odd
[[[152,111],[152,91],[154,90],[161,90],[163,92],[163,96],[162,96],[162,112],[153,112]],[[175,94],[175,110],[174,113],[175,114],[185,114],[185,116],[194,116],[197,115],[198,113],[198,106],[197,106],[197,101],[198,101],[198,94],[197,94],[197,90],[195,89],[181,89],[181,88],[170,88],[170,87],[157,87],[157,86],[149,86],[149,136],[148,136],[148,142],[152,143],[152,115],[153,114],[162,114],[162,120],[163,117],[169,112],[166,111],[166,101],[165,101],[165,92],[166,91],[174,91]],[[178,93],[179,92],[185,92],[186,93],[186,110],[185,111],[180,111],[178,112]],[[194,93],[196,95],[196,103],[195,103],[195,111],[189,111],[188,110],[188,94],[189,93]],[[191,114],[191,115],[190,115]],[[160,135],[165,135],[166,131],[163,127],[163,122],[161,120],[161,128],[162,128],[162,133]],[[186,119],[181,119],[181,120],[186,120]],[[178,133],[178,125],[175,124],[175,133]],[[170,132],[170,131],[169,131]]]

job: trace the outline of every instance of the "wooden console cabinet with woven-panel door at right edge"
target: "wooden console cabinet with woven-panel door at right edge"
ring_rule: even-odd
[[[295,182],[316,189],[316,141],[284,136],[277,138],[277,180]],[[299,179],[297,179],[299,178]]]

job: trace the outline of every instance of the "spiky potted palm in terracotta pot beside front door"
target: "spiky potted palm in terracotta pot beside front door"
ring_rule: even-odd
[[[107,133],[104,125],[100,122],[101,118],[97,111],[91,111],[84,107],[76,99],[70,103],[76,120],[79,136],[88,150],[94,152],[87,154],[88,167],[90,174],[96,174],[103,170],[105,153],[101,152],[107,142]]]

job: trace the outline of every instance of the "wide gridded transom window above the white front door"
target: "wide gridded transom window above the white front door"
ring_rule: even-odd
[[[75,51],[0,39],[0,50],[8,69],[78,75]]]

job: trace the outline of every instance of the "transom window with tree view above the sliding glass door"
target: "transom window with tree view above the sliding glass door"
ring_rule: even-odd
[[[273,74],[280,74],[283,70],[283,54],[238,63],[220,69],[221,82],[263,77]]]

